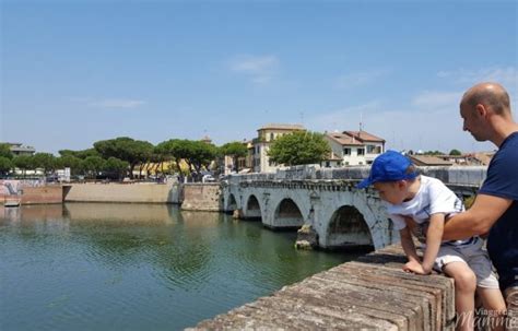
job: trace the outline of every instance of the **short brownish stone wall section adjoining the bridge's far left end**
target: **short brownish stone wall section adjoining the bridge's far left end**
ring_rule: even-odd
[[[183,210],[221,211],[223,199],[220,184],[185,184]]]

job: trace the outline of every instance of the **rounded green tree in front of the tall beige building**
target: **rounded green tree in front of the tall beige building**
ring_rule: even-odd
[[[323,134],[295,131],[273,141],[268,151],[270,161],[286,166],[321,163],[331,152]]]

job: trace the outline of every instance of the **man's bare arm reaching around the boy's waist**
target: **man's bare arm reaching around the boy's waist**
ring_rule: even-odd
[[[468,211],[457,214],[446,222],[443,240],[466,239],[487,233],[511,203],[510,199],[478,194]]]

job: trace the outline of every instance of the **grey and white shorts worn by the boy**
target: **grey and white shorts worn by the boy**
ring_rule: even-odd
[[[493,265],[487,251],[482,249],[484,240],[473,238],[473,244],[450,245],[443,244],[435,259],[434,269],[443,268],[451,262],[464,262],[476,275],[476,286],[484,288],[499,288],[498,280],[493,272]]]

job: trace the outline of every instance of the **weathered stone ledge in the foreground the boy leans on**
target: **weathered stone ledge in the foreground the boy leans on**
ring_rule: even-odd
[[[452,280],[405,273],[404,262],[392,245],[188,330],[452,330]]]

